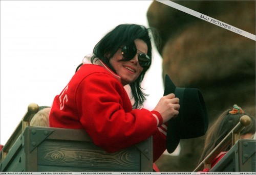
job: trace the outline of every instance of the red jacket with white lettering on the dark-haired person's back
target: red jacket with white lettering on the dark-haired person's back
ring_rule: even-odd
[[[120,77],[103,63],[84,64],[54,98],[50,127],[85,129],[93,142],[116,152],[154,136],[154,161],[165,151],[166,125],[156,111],[132,109]],[[158,127],[160,126],[160,127]]]

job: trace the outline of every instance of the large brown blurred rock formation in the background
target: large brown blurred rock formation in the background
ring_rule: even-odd
[[[174,2],[255,35],[255,1]],[[147,19],[160,34],[163,78],[201,90],[209,126],[234,104],[255,116],[254,40],[157,1]],[[163,155],[156,164],[160,171],[193,171],[203,143],[204,136],[181,140],[179,156]]]

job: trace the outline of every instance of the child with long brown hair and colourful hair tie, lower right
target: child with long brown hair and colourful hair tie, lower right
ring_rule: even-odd
[[[224,111],[207,131],[205,145],[199,163],[201,163],[224,139],[244,115],[248,115],[251,118],[251,123],[240,132],[240,138],[253,138],[255,134],[255,117],[245,113],[238,105],[233,105],[233,108]],[[221,158],[225,156],[229,149],[230,147],[227,147],[223,152],[219,153],[219,155],[212,160],[211,167],[214,167]],[[202,171],[208,172],[209,168],[205,168]]]

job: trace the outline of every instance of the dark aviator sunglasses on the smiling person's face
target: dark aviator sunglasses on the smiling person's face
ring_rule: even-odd
[[[137,54],[137,48],[135,44],[125,45],[122,47],[122,56],[124,57],[122,61],[132,60],[136,54]],[[138,60],[141,67],[147,67],[151,64],[151,58],[144,53],[138,54]]]

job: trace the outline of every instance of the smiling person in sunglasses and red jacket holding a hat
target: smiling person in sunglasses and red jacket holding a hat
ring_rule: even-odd
[[[156,161],[166,149],[166,122],[179,114],[180,105],[171,93],[161,97],[153,111],[143,108],[141,82],[152,63],[149,31],[138,24],[120,24],[107,33],[95,45],[90,63],[79,65],[55,96],[50,127],[84,129],[109,153],[153,136]]]

